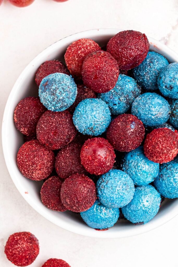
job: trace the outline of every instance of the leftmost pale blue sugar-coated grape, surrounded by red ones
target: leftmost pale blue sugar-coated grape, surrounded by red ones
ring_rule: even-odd
[[[64,111],[74,103],[76,96],[74,79],[64,73],[49,74],[39,85],[40,101],[51,111]]]

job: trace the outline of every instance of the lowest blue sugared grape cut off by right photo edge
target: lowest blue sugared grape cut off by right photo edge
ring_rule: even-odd
[[[178,198],[178,161],[161,164],[154,185],[165,198]]]

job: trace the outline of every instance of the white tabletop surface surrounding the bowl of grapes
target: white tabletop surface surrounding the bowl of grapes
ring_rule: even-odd
[[[13,84],[43,49],[70,34],[94,28],[134,29],[162,41],[178,53],[177,0],[35,0],[17,8],[0,6],[0,116]],[[31,267],[52,257],[71,267],[178,266],[178,217],[151,232],[130,238],[96,239],[63,230],[34,211],[15,188],[0,151],[0,266],[12,267],[4,255],[8,236],[30,231],[40,254]]]

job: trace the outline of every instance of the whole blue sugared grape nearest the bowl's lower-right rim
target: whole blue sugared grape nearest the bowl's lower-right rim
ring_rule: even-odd
[[[122,213],[130,222],[144,224],[155,217],[160,203],[160,193],[153,186],[137,186],[133,199],[122,207]]]

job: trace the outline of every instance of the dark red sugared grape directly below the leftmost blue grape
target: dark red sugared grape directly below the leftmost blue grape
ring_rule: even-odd
[[[52,150],[69,144],[76,136],[77,130],[69,111],[43,113],[37,124],[37,139]]]

